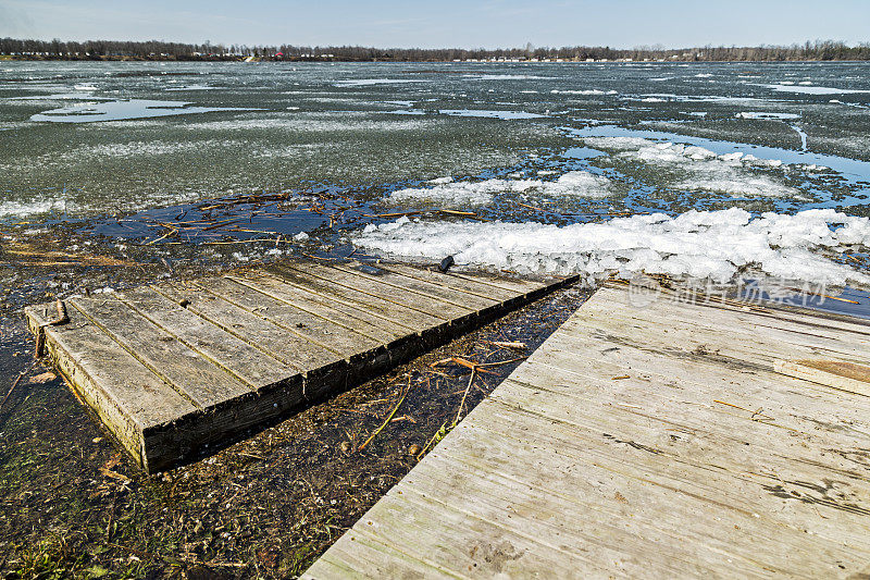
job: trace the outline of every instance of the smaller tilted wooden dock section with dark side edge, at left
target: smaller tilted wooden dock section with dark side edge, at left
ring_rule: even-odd
[[[573,280],[407,266],[268,267],[25,310],[146,471],[445,343]]]

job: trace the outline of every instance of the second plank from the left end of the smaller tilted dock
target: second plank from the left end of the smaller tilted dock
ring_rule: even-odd
[[[254,386],[207,360],[176,336],[136,316],[111,294],[104,298],[74,298],[67,300],[67,305],[201,408],[247,394]]]

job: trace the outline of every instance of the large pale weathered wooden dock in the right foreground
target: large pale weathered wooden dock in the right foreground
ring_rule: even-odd
[[[627,297],[599,289],[303,578],[868,578],[870,325]]]

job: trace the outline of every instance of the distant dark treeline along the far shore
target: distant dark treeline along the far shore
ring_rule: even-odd
[[[694,47],[666,49],[637,47],[562,47],[510,49],[380,49],[366,47],[299,47],[291,45],[185,45],[181,42],[130,42],[119,40],[0,39],[0,57],[45,60],[241,60],[249,57],[270,60],[334,60],[334,61],[402,61],[444,62],[456,60],[520,60],[520,61],[832,61],[870,60],[870,42],[850,47],[833,40],[817,40],[804,45],[760,47]]]

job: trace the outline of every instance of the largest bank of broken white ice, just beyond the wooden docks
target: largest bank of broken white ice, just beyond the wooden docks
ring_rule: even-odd
[[[593,283],[612,273],[659,273],[734,282],[769,275],[820,284],[870,284],[870,276],[819,250],[870,245],[870,220],[831,209],[797,214],[743,209],[691,210],[614,218],[602,223],[423,222],[400,218],[352,236],[370,252],[507,269],[522,274],[582,274]]]

